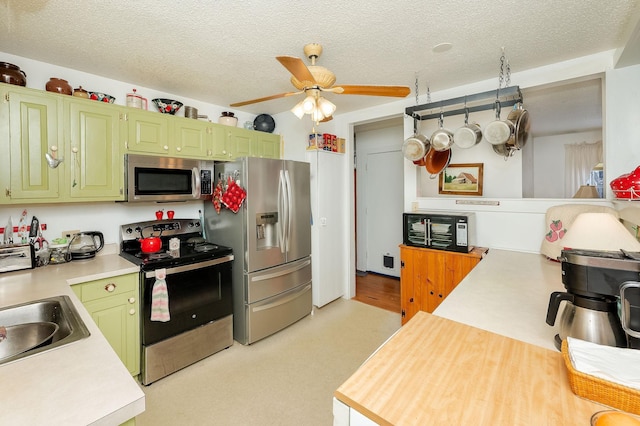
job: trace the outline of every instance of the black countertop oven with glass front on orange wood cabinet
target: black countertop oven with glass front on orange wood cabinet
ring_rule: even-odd
[[[404,213],[403,243],[468,253],[475,246],[475,213]]]

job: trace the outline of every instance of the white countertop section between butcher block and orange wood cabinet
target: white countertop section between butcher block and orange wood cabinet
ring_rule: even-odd
[[[490,249],[433,313],[555,351],[560,321],[545,319],[551,293],[565,291],[561,274],[541,254]]]

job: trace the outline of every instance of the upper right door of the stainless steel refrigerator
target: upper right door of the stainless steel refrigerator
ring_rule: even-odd
[[[284,179],[291,194],[286,233],[286,261],[311,255],[311,173],[309,163],[285,161]]]

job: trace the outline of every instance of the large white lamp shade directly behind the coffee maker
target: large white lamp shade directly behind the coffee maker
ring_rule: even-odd
[[[609,213],[581,213],[562,239],[565,248],[640,251],[640,242]]]

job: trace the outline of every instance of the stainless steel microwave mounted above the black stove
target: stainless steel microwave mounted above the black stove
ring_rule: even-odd
[[[127,154],[127,201],[210,199],[213,161]]]

